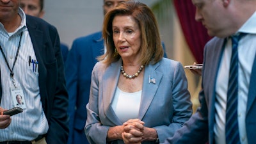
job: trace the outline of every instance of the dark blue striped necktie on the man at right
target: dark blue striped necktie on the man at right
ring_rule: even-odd
[[[244,36],[240,33],[231,36],[232,56],[230,60],[230,70],[228,79],[227,110],[226,110],[226,144],[239,144],[239,129],[237,120],[237,94],[238,94],[238,54],[237,46],[240,38]]]

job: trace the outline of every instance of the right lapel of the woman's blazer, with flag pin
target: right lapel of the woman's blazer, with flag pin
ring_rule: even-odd
[[[161,83],[163,74],[156,70],[158,66],[159,63],[156,63],[156,65],[148,65],[148,67],[145,67],[141,94],[141,104],[138,116],[140,120],[142,120],[145,116],[148,107],[150,106],[152,100],[154,99],[154,96],[156,95],[159,83]]]

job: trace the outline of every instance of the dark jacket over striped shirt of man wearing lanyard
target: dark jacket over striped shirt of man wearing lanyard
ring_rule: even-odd
[[[67,143],[68,95],[65,88],[60,38],[56,28],[44,20],[29,15],[26,15],[26,18],[36,60],[38,60],[42,106],[49,124],[46,141],[47,144]],[[2,83],[0,84],[0,100],[1,97]]]

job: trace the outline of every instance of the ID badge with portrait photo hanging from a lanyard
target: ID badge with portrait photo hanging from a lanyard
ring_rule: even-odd
[[[24,93],[21,88],[19,87],[11,87],[11,95],[13,100],[13,107],[19,107],[22,109],[26,109],[26,100],[24,97]]]

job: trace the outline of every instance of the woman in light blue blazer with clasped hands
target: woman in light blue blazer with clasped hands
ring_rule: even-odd
[[[104,17],[106,53],[93,68],[88,141],[159,143],[192,115],[182,65],[163,58],[154,14],[143,3],[119,4]]]

